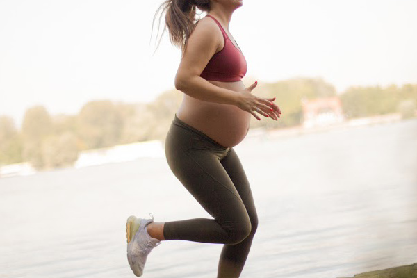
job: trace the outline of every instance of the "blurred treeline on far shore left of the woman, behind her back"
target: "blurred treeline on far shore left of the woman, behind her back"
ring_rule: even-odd
[[[20,130],[12,118],[0,116],[0,166],[27,161],[36,170],[67,167],[85,149],[163,140],[181,99],[170,90],[149,104],[89,101],[77,115],[52,116],[34,106]]]

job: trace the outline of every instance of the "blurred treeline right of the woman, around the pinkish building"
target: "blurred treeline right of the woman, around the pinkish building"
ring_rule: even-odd
[[[252,119],[251,122],[251,127],[265,126],[272,129],[302,124],[302,99],[311,100],[337,95],[332,84],[322,79],[306,78],[259,84],[254,94],[260,97],[277,97],[275,103],[282,111],[278,121]],[[352,86],[338,97],[341,99],[347,120],[390,113],[400,113],[402,118],[416,117],[417,84],[405,84],[402,87],[390,85],[386,88]]]

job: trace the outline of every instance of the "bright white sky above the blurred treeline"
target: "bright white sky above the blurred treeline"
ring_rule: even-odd
[[[91,100],[148,102],[173,89],[181,51],[165,31],[154,53],[157,20],[151,38],[162,2],[0,0],[0,115],[19,126],[35,105],[76,114]],[[301,76],[342,93],[417,83],[416,11],[416,0],[243,0],[229,31],[245,85]]]

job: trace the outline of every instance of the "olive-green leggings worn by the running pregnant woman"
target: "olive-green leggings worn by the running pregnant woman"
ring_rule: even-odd
[[[165,140],[174,175],[213,219],[165,222],[166,240],[222,243],[218,278],[239,277],[258,225],[249,182],[233,147],[223,147],[177,115]]]

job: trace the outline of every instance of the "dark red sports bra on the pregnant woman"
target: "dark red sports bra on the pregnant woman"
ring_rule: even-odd
[[[211,57],[200,76],[206,80],[233,82],[240,81],[245,76],[247,64],[243,53],[235,47],[224,31],[222,25],[211,17],[220,27],[224,38],[224,47]]]

